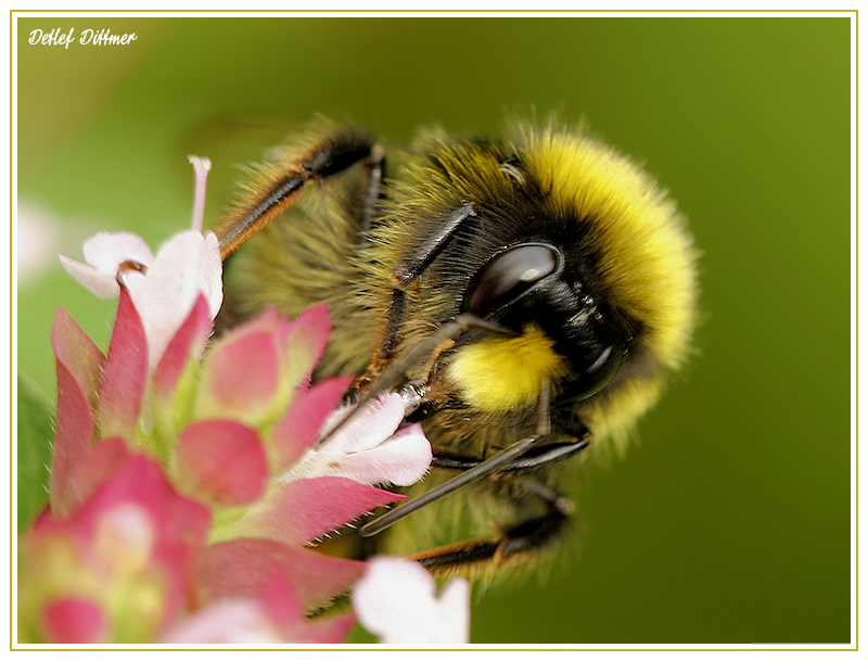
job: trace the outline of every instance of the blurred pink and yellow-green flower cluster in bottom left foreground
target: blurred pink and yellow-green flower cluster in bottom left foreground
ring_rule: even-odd
[[[159,465],[127,456],[68,517],[47,512],[22,538],[22,637],[154,639],[181,610],[209,519],[178,495]]]

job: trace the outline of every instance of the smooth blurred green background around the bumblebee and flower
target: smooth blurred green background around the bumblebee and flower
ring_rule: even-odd
[[[30,46],[33,29],[135,31]],[[582,485],[562,573],[481,595],[474,643],[851,639],[851,24],[840,18],[58,18],[18,29],[18,201],[53,218],[21,274],[18,366],[53,396],[66,307],[114,303],[53,253],[186,227],[187,155],[238,175],[315,113],[395,140],[557,110],[644,162],[703,251],[698,356],[640,445]]]

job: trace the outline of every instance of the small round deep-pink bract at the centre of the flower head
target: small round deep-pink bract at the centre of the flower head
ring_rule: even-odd
[[[235,420],[194,422],[181,432],[175,456],[178,483],[212,505],[253,503],[268,478],[259,435]]]

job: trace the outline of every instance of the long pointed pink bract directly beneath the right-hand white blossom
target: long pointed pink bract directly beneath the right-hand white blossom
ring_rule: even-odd
[[[318,478],[277,485],[241,521],[227,526],[232,537],[268,537],[307,544],[383,505],[405,500],[345,478]]]

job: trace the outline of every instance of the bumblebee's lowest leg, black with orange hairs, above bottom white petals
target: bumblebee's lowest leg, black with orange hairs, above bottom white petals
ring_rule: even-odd
[[[410,557],[434,573],[450,573],[500,568],[557,542],[570,522],[572,500],[536,481],[527,481],[526,486],[528,496],[546,504],[542,516],[513,525],[495,539],[473,539]]]

